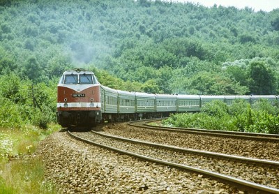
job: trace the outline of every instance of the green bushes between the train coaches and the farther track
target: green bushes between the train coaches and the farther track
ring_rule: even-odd
[[[252,133],[279,134],[278,106],[267,100],[252,104],[236,100],[227,106],[220,100],[207,103],[196,114],[173,114],[163,121],[165,125],[213,130],[234,130]]]

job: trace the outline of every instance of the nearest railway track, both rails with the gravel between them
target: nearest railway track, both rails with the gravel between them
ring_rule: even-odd
[[[229,181],[251,192],[279,193],[279,162],[277,161],[182,149],[97,132],[68,133],[90,144],[146,161],[190,170],[225,182]]]

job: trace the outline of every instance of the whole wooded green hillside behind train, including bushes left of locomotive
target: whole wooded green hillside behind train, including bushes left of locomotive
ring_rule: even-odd
[[[127,91],[278,93],[278,9],[26,0],[0,13],[0,126],[54,121],[56,82],[74,67]]]

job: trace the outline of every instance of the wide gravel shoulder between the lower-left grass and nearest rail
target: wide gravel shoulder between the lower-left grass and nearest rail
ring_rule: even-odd
[[[40,142],[36,155],[59,193],[243,193],[200,174],[84,144],[66,132]]]

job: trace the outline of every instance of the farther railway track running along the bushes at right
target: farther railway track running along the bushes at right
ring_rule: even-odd
[[[197,128],[178,128],[178,127],[165,127],[165,126],[151,126],[151,122],[161,121],[162,119],[150,119],[142,121],[130,121],[128,125],[134,127],[144,127],[152,130],[167,130],[179,133],[197,134],[197,135],[211,135],[218,137],[229,137],[236,139],[246,139],[246,140],[257,140],[257,141],[268,141],[268,142],[278,142],[279,135],[276,134],[265,134],[265,133],[244,133],[236,131],[227,130],[207,130],[207,129],[197,129]]]

